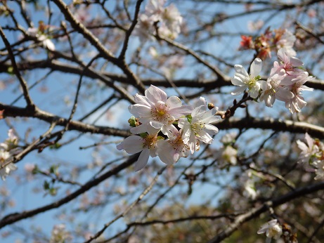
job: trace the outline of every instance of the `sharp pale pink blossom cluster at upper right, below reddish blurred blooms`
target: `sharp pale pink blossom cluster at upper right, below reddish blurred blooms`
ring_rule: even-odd
[[[301,112],[307,104],[301,92],[313,91],[313,88],[304,86],[304,84],[314,77],[300,69],[304,63],[292,56],[286,48],[280,48],[277,55],[280,63],[277,61],[273,63],[267,80],[261,80],[259,76],[262,65],[260,58],[254,59],[250,74],[242,65],[235,65],[236,72],[231,82],[238,88],[232,94],[238,95],[247,89],[252,98],[259,98],[268,107],[272,107],[277,99],[285,102],[285,106],[291,113]]]

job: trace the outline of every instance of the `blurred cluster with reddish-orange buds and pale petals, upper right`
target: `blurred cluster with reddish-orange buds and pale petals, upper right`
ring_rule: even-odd
[[[271,58],[271,51],[278,51],[280,48],[285,48],[290,55],[296,55],[292,48],[296,37],[287,29],[275,29],[271,31],[266,29],[264,34],[252,39],[252,37],[242,35],[240,42],[240,50],[254,49],[257,51],[257,58],[265,60]]]

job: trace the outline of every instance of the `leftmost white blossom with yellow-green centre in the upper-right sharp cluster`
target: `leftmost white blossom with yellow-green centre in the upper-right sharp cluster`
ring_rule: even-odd
[[[262,60],[260,58],[255,58],[250,68],[250,74],[247,73],[242,65],[234,66],[236,72],[234,77],[231,77],[231,82],[233,85],[238,86],[238,88],[232,92],[232,95],[239,95],[247,88],[252,98],[257,98],[259,96],[261,85],[259,82],[259,73],[261,72],[261,65]]]

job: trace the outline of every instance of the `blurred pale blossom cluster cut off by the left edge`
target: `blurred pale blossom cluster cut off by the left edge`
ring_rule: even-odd
[[[18,145],[18,138],[13,134],[13,129],[9,129],[8,138],[4,143],[0,143],[0,176],[2,180],[6,180],[6,176],[9,175],[10,171],[15,171],[17,166],[10,163],[2,168],[3,164],[6,164],[9,159],[15,154]]]

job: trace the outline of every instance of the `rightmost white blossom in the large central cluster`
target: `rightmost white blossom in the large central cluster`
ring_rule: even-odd
[[[192,154],[199,145],[197,140],[210,144],[213,140],[211,135],[219,132],[219,129],[211,124],[219,120],[219,117],[215,117],[217,110],[218,107],[207,110],[205,98],[200,97],[193,112],[185,118],[179,119],[178,126],[183,129],[183,141],[188,143]]]

